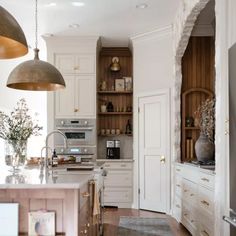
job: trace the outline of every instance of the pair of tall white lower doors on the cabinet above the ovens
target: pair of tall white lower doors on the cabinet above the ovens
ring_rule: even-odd
[[[55,93],[56,118],[96,116],[95,76],[66,75],[66,88]]]

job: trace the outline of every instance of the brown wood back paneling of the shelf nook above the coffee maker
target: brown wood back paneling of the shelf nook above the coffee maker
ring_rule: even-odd
[[[119,58],[121,70],[112,72],[110,65],[113,57]],[[132,54],[129,48],[102,48],[99,56],[99,76],[98,76],[98,134],[101,129],[120,129],[125,133],[125,127],[128,119],[132,121],[132,113],[127,114],[100,114],[101,104],[112,102],[114,111],[125,112],[127,107],[132,107],[132,92],[109,92],[115,87],[115,79],[122,77],[132,77]],[[100,84],[106,81],[107,92],[100,92]]]

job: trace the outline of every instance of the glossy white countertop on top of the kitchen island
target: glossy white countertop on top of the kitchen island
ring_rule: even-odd
[[[96,179],[101,168],[92,171],[49,171],[47,178],[37,167],[24,168],[19,173],[10,167],[0,166],[0,189],[79,189],[91,179]]]

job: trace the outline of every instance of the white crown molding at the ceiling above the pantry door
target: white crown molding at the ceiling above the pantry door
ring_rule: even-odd
[[[133,37],[130,37],[130,39],[131,39],[132,42],[135,43],[135,42],[139,42],[139,41],[150,40],[150,39],[153,39],[153,38],[160,38],[160,37],[163,37],[165,35],[172,34],[172,33],[173,33],[173,26],[168,25],[168,26],[156,29],[156,30],[152,30],[152,31],[149,31],[149,32],[145,32],[145,33],[142,33],[142,34],[135,35]]]

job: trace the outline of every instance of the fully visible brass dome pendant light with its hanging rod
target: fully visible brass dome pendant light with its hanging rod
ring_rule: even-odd
[[[38,0],[35,0],[35,25],[34,60],[18,65],[10,73],[7,87],[31,91],[53,91],[65,88],[65,81],[59,70],[50,63],[39,60]]]

